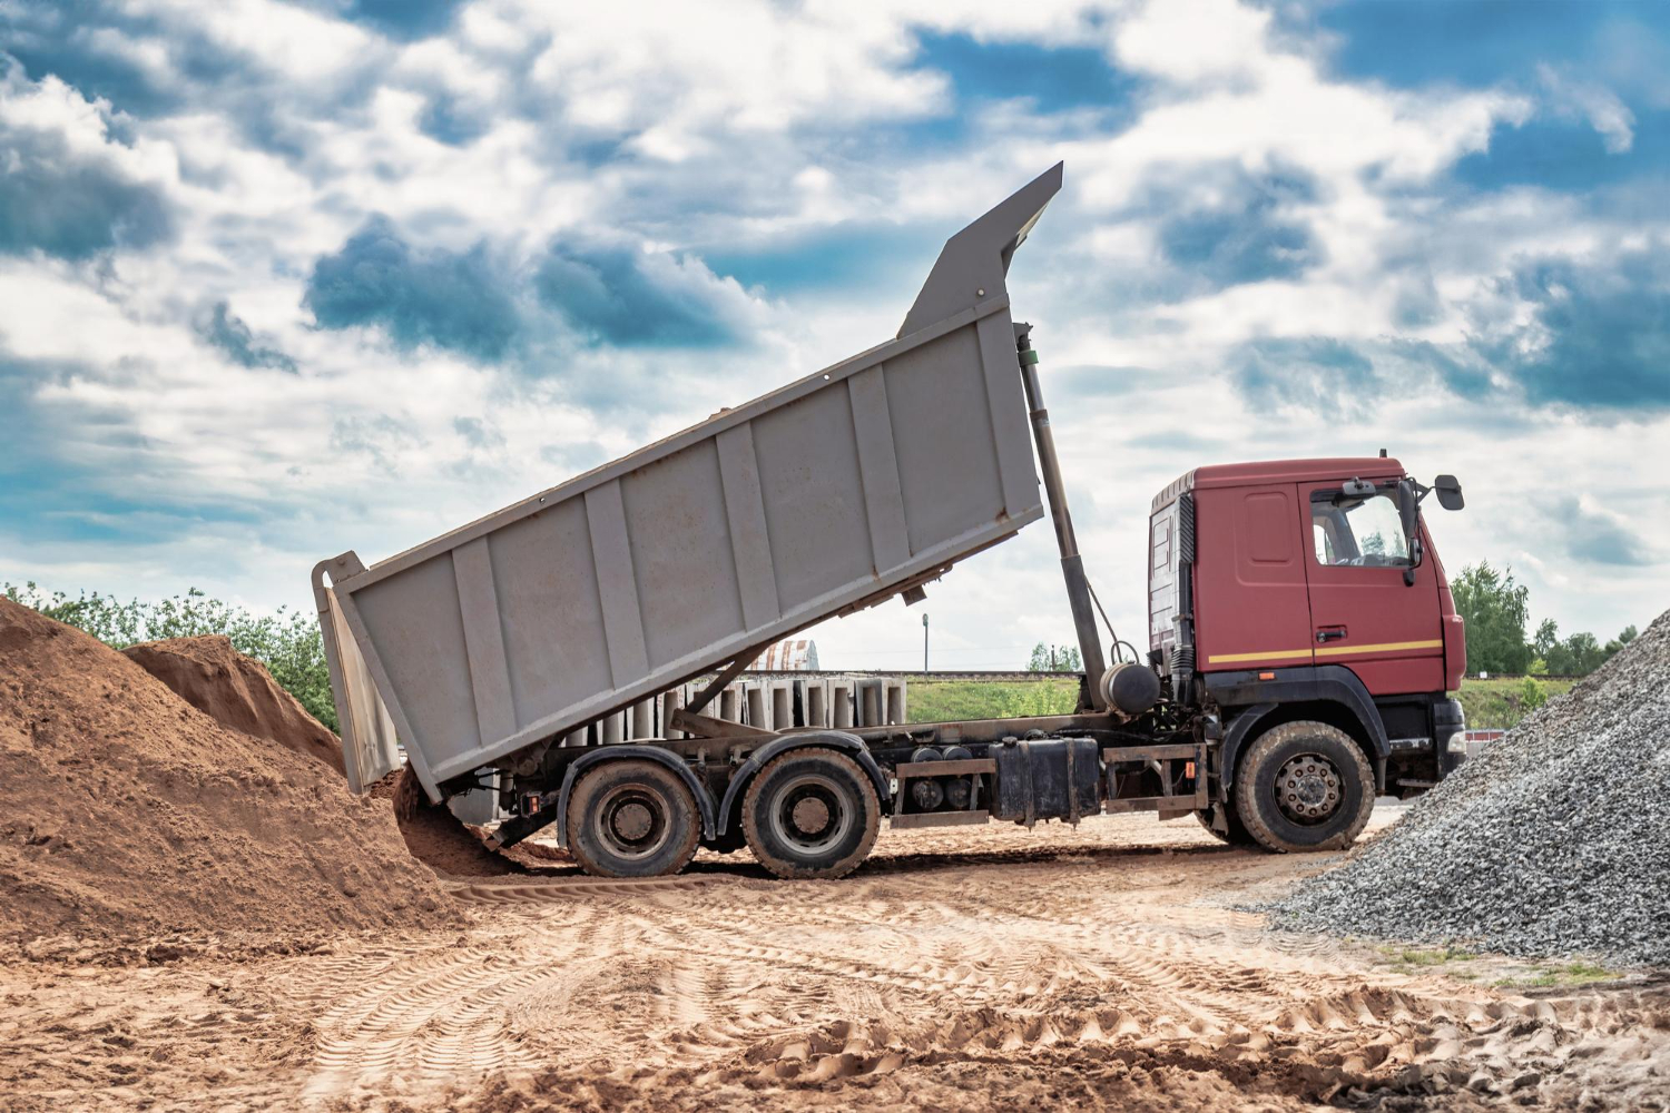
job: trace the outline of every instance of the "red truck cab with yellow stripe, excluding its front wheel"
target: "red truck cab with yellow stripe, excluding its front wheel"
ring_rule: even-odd
[[[1172,699],[1221,719],[1219,834],[1237,828],[1239,761],[1284,724],[1349,736],[1378,793],[1421,793],[1460,761],[1448,692],[1466,642],[1421,516],[1431,492],[1460,509],[1453,477],[1425,487],[1379,456],[1199,467],[1154,497],[1151,661]]]

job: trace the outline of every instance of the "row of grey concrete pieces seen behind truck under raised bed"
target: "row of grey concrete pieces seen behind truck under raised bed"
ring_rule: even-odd
[[[640,699],[625,711],[569,731],[561,746],[631,743],[641,738],[683,738],[671,726],[673,711],[706,687],[695,681],[670,692]],[[750,674],[720,691],[703,714],[787,731],[797,726],[892,726],[905,721],[905,679],[882,676]],[[498,774],[483,774],[498,781]],[[496,789],[459,793],[448,808],[464,823],[488,826],[503,818]]]

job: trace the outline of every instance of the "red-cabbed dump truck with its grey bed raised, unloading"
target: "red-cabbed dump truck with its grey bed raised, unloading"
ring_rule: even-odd
[[[1463,749],[1448,692],[1466,652],[1421,504],[1460,509],[1451,476],[1425,486],[1384,451],[1196,467],[1152,501],[1147,651],[1104,642],[1007,289],[1060,184],[1057,164],[952,235],[885,344],[369,567],[321,561],[351,786],[404,754],[433,803],[494,793],[496,846],[554,828],[598,876],[746,846],[777,876],[835,878],[882,823],[1152,811],[1334,849],[1376,796],[1436,784]],[[711,714],[765,646],[913,602],[1045,514],[1084,664],[1074,713]],[[665,738],[588,729],[673,691]]]

